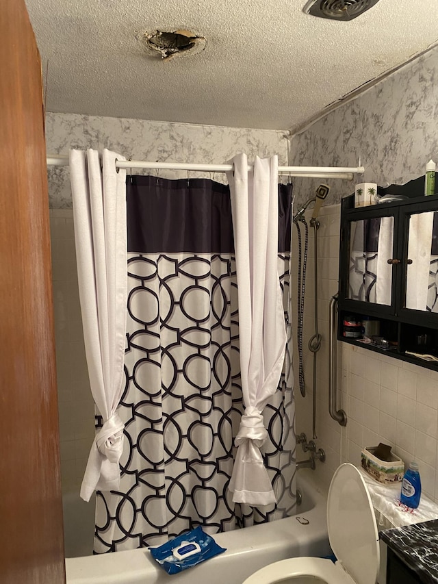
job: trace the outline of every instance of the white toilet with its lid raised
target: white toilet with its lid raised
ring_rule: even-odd
[[[296,557],[271,563],[244,584],[376,584],[378,531],[370,494],[352,464],[337,468],[327,499],[330,545],[337,562]]]

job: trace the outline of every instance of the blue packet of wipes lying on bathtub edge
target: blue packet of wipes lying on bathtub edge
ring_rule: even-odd
[[[157,548],[149,548],[153,559],[168,574],[177,574],[211,557],[227,551],[216,544],[201,526],[178,535]]]

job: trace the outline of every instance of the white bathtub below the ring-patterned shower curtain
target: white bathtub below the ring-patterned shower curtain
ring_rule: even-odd
[[[273,561],[329,555],[326,496],[314,485],[311,472],[298,473],[302,505],[296,516],[216,534],[214,539],[227,551],[196,568],[168,576],[142,548],[66,559],[67,584],[242,584]]]

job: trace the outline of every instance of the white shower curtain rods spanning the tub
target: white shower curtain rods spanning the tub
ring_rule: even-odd
[[[68,156],[51,154],[47,166],[68,166]],[[116,168],[150,168],[151,170],[194,170],[205,173],[227,173],[232,164],[193,164],[191,162],[141,162],[140,160],[116,160]],[[253,166],[248,166],[252,169]],[[314,177],[352,180],[354,174],[363,175],[363,166],[279,166],[279,175],[290,177]]]

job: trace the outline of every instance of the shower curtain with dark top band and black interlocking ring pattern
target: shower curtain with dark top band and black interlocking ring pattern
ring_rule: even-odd
[[[289,257],[292,185],[279,185],[279,274],[288,342],[263,411],[261,448],[278,503],[228,490],[242,416],[229,187],[127,178],[128,305],[120,490],[98,492],[94,553],[163,544],[282,518],[296,505]]]

